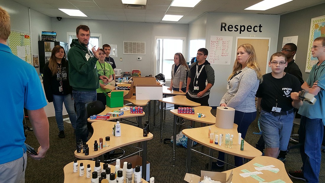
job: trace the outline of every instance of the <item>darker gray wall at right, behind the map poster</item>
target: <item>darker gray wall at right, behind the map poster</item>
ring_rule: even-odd
[[[280,18],[278,49],[282,47],[283,37],[298,35],[295,63],[299,66],[306,80],[309,73],[305,72],[310,21],[312,18],[325,15],[325,3],[282,15]]]

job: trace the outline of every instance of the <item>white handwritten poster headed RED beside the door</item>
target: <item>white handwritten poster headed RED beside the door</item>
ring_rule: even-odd
[[[209,63],[230,65],[232,36],[211,35]]]

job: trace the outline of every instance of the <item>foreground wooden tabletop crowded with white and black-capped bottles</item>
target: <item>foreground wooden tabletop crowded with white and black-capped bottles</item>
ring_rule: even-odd
[[[64,172],[64,183],[90,183],[91,178],[86,177],[86,168],[87,164],[90,164],[91,172],[94,171],[95,167],[95,161],[91,160],[78,160],[78,165],[80,166],[80,163],[84,163],[85,166],[85,176],[79,176],[79,172],[74,173],[73,172],[73,162],[67,164],[63,168]],[[100,163],[100,166],[103,168],[104,163]],[[115,173],[115,166],[110,165],[110,172]],[[109,175],[108,175],[109,176]],[[142,182],[145,182],[146,180],[141,179]],[[125,182],[125,180],[124,180]]]

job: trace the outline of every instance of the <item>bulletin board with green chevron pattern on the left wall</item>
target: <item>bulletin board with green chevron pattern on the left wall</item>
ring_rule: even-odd
[[[33,65],[32,39],[29,33],[11,30],[7,44],[14,55]]]

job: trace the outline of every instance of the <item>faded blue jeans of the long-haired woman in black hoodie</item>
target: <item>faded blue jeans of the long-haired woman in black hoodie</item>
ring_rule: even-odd
[[[73,99],[71,94],[67,95],[53,95],[53,105],[55,110],[55,119],[57,120],[59,131],[64,130],[63,126],[63,117],[62,117],[62,109],[63,103],[65,109],[69,114],[69,119],[71,121],[72,127],[76,129],[76,120],[77,116],[74,111]]]

